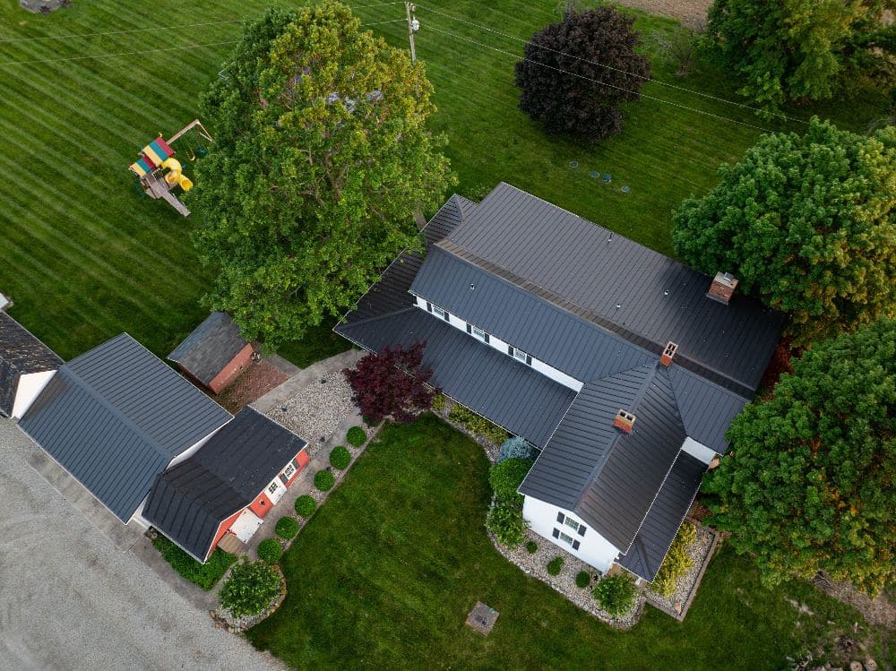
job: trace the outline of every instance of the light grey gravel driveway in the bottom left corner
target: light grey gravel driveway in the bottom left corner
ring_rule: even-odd
[[[0,668],[278,668],[116,549],[30,468],[34,449],[0,418]]]

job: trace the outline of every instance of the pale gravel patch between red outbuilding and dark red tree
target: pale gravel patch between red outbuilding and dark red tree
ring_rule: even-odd
[[[268,415],[305,438],[308,452],[314,456],[353,412],[349,383],[340,371],[335,371],[302,387]]]

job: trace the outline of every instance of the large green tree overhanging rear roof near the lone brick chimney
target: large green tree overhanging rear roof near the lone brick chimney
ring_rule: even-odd
[[[896,316],[896,128],[763,135],[673,214],[676,254],[793,314],[797,342]]]

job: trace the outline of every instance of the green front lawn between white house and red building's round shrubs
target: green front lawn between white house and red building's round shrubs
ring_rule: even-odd
[[[249,640],[298,668],[758,671],[861,622],[807,584],[762,589],[723,549],[683,624],[647,607],[617,632],[495,551],[488,499],[478,444],[431,415],[385,426],[284,555],[289,596]],[[477,600],[501,613],[487,638],[464,625]]]

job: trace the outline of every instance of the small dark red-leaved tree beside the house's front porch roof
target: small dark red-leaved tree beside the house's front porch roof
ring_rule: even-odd
[[[342,371],[351,385],[351,400],[368,423],[379,424],[389,416],[396,422],[410,422],[417,412],[430,408],[439,390],[426,384],[433,372],[421,368],[425,347],[426,341],[408,349],[387,346]]]

